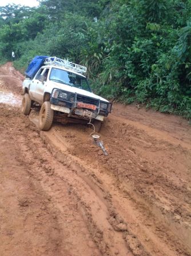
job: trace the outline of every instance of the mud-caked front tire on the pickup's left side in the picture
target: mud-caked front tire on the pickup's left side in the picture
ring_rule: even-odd
[[[39,113],[39,129],[48,131],[53,123],[54,111],[50,108],[49,101],[45,101],[41,106]]]

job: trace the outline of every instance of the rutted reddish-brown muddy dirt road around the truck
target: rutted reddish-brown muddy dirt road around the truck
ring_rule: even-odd
[[[85,125],[19,113],[22,79],[0,68],[0,255],[191,255],[188,122],[116,104],[105,156]]]

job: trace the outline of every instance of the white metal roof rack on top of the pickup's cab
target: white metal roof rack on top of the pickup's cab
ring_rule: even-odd
[[[68,60],[62,60],[61,58],[57,58],[57,57],[46,58],[44,64],[45,65],[63,66],[64,68],[73,70],[77,73],[86,73],[86,70],[87,70],[85,66],[75,64]]]

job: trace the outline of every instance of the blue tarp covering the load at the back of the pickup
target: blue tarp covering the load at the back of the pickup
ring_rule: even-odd
[[[29,63],[29,66],[25,70],[26,76],[33,78],[35,74],[37,73],[38,69],[41,68],[43,65],[43,62],[45,61],[45,58],[48,58],[49,56],[35,56],[33,60]]]

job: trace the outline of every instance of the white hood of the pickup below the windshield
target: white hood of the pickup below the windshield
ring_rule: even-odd
[[[66,84],[60,84],[59,82],[49,81],[49,83],[51,83],[53,88],[58,88],[58,89],[61,89],[61,90],[66,90],[67,92],[73,92],[73,93],[85,95],[87,97],[91,97],[91,98],[94,98],[94,99],[98,99],[98,100],[101,100],[101,101],[109,102],[108,100],[94,94],[93,92],[88,92],[87,90],[79,89],[79,88],[76,88],[74,86],[70,86],[70,85],[66,85]]]

